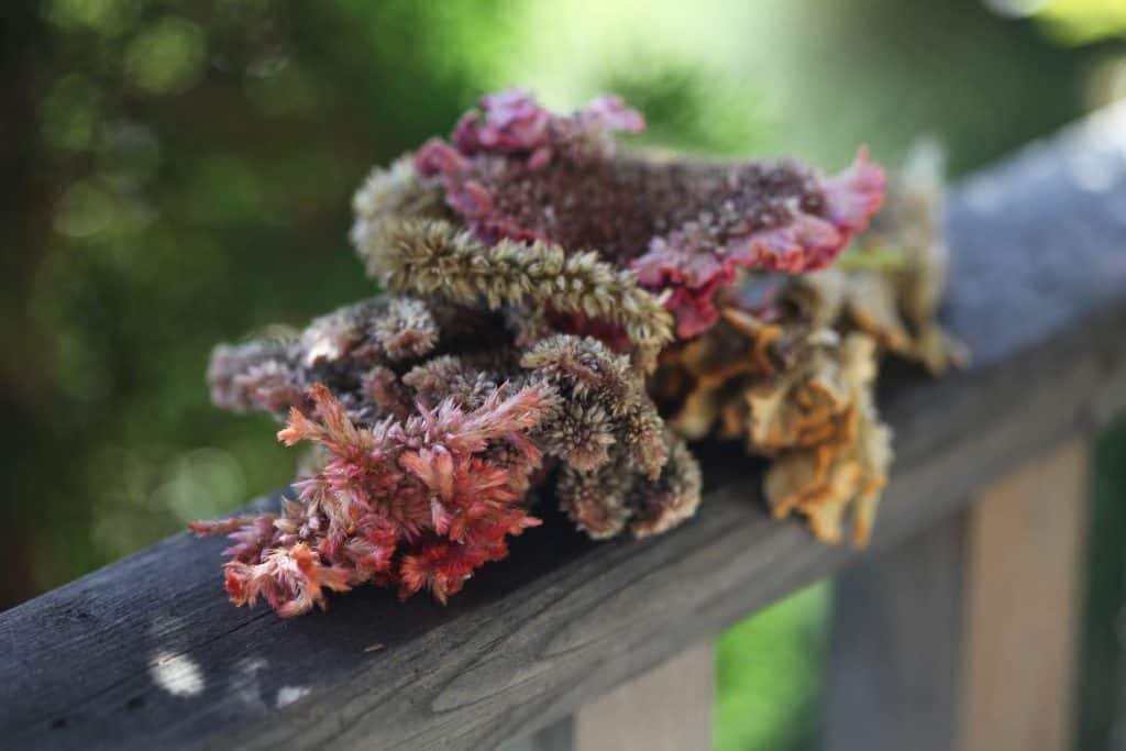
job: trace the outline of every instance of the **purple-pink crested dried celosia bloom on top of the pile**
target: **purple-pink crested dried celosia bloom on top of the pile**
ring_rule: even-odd
[[[881,170],[861,151],[825,178],[795,162],[707,163],[618,151],[614,131],[641,115],[616,98],[572,115],[528,95],[485,97],[454,131],[414,155],[418,172],[481,241],[549,241],[597,250],[641,284],[668,290],[681,337],[717,318],[713,297],[740,268],[825,268],[883,200]]]

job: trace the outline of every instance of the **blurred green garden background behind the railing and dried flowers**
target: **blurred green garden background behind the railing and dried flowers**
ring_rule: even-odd
[[[208,352],[370,294],[352,190],[482,93],[617,91],[649,143],[830,169],[929,134],[956,177],[1126,97],[1126,0],[8,0],[0,75],[2,609],[291,479],[267,418],[209,405]],[[1124,457],[1119,430],[1084,749],[1117,700]],[[806,748],[825,606],[721,640],[720,748]]]

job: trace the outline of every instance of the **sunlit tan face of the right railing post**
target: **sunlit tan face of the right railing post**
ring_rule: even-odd
[[[1088,442],[1028,462],[971,511],[963,751],[1072,748]]]

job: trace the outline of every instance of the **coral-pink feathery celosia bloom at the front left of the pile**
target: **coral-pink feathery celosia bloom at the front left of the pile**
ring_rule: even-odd
[[[197,522],[227,534],[226,589],[236,605],[262,597],[282,616],[324,608],[325,590],[399,583],[446,598],[477,566],[508,554],[506,538],[539,524],[521,504],[539,452],[528,433],[549,409],[535,388],[495,388],[474,410],[452,400],[406,420],[357,426],[323,384],[278,433],[321,444],[328,459],[294,484],[282,516]],[[501,450],[503,449],[503,450]]]

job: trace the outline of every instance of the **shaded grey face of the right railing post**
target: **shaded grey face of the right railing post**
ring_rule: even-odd
[[[968,516],[951,515],[837,576],[825,751],[955,748]]]

